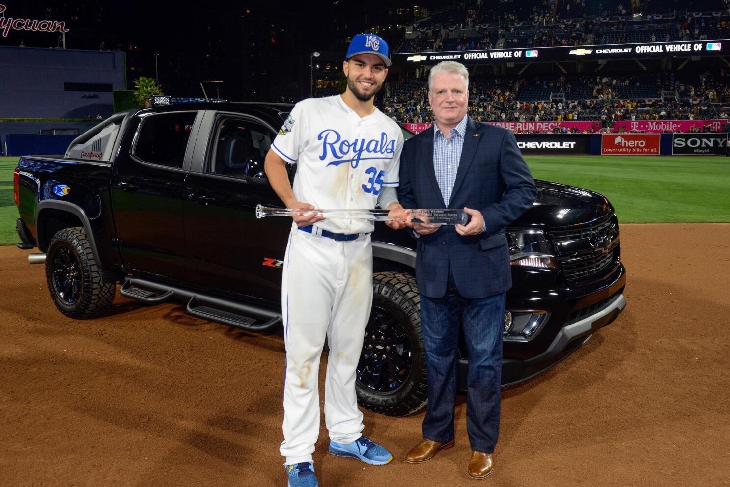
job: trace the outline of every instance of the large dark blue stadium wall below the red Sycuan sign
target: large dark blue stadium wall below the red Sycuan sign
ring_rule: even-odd
[[[107,118],[125,84],[121,51],[0,46],[0,118]]]

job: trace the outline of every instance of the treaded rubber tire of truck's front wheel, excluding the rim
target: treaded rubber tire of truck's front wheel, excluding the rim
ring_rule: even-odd
[[[373,276],[373,313],[377,308],[391,313],[402,328],[410,347],[410,370],[393,391],[369,388],[359,378],[356,381],[358,403],[375,413],[386,416],[408,416],[423,409],[427,402],[426,351],[420,330],[420,296],[415,277],[404,273],[381,272]],[[373,315],[371,314],[371,320]],[[363,355],[368,353],[372,335],[366,334]],[[363,363],[363,362],[361,362]],[[360,368],[358,366],[358,368]]]

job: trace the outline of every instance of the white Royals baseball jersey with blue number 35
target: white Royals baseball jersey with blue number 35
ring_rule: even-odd
[[[398,186],[403,134],[375,109],[360,117],[342,96],[309,98],[294,106],[272,149],[297,163],[294,197],[318,209],[374,209],[384,186]],[[324,219],[334,233],[372,232],[367,220]]]

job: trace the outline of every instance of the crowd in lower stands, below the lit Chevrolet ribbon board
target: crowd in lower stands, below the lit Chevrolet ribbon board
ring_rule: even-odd
[[[646,86],[647,77],[654,85]],[[483,122],[571,122],[599,120],[709,120],[730,113],[730,71],[709,71],[696,79],[675,74],[644,77],[476,78],[469,80],[469,114]],[[404,88],[385,87],[382,109],[396,122],[432,122],[426,79],[410,79]],[[534,95],[531,88],[546,96]],[[640,93],[640,97],[622,95]],[[636,90],[639,90],[638,92]],[[556,97],[555,95],[559,96]],[[553,97],[553,100],[550,97]]]

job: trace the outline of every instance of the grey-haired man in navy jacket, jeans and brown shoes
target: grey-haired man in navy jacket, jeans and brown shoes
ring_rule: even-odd
[[[461,324],[469,353],[468,472],[485,478],[499,432],[504,296],[512,286],[505,227],[532,206],[537,191],[512,132],[466,115],[468,86],[461,63],[431,69],[436,123],[407,141],[401,155],[398,198],[404,208],[464,209],[470,217],[467,225],[413,225],[429,404],[423,441],[406,459],[427,461],[454,444]]]

